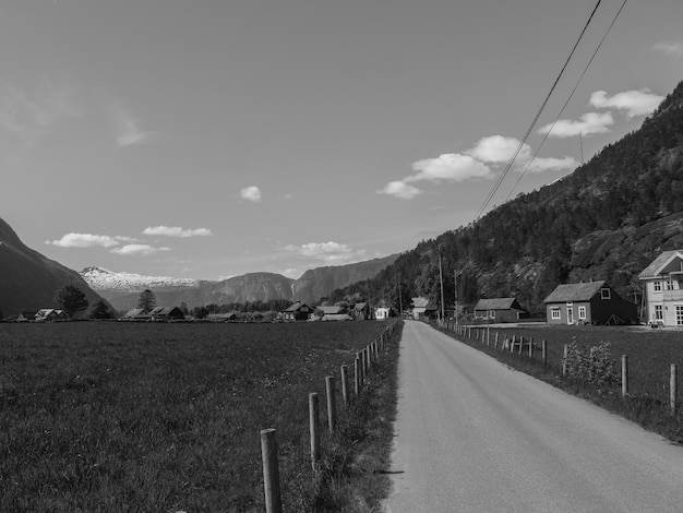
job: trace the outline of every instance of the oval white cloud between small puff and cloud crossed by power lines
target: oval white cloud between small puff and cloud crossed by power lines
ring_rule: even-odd
[[[435,158],[418,160],[412,164],[412,170],[416,172],[404,181],[465,181],[493,177],[486,164],[459,153],[446,153]]]

